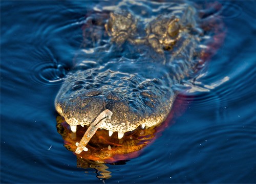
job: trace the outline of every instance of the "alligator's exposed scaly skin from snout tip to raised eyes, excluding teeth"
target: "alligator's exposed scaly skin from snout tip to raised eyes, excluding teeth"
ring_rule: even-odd
[[[190,33],[196,27],[194,10],[187,7],[186,12],[182,17],[156,17],[147,24],[144,37],[136,35],[137,20],[131,13],[111,13],[105,29],[112,43],[120,48],[125,42],[137,45],[138,51],[131,55],[145,47],[148,52],[143,51],[131,69],[125,58],[112,58],[70,73],[55,99],[59,114],[69,125],[89,125],[109,109],[111,120],[99,128],[120,133],[163,122],[177,95],[173,85],[195,73],[199,62],[196,45],[200,37]]]

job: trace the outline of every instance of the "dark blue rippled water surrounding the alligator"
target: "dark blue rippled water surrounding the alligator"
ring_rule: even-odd
[[[256,2],[220,3],[226,37],[186,109],[139,157],[106,164],[106,183],[256,182]],[[1,183],[102,182],[63,147],[54,109],[95,4],[1,1]]]

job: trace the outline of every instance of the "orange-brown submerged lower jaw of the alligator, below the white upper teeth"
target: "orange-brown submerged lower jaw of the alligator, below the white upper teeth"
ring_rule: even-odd
[[[74,152],[82,136],[86,132],[86,126],[77,126],[76,133],[70,130],[70,126],[60,116],[57,117],[57,131],[64,140],[65,147]],[[137,128],[132,132],[126,132],[122,139],[117,139],[117,132],[109,136],[109,131],[98,130],[86,146],[89,150],[76,154],[80,159],[92,160],[97,163],[117,163],[139,156],[141,149],[156,139],[156,127],[148,129]]]

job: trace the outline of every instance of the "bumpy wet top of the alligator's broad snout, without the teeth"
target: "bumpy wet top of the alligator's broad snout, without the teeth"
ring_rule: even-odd
[[[117,85],[111,85],[117,78],[115,72],[105,72],[105,77],[100,78],[98,75],[92,77],[92,71],[76,72],[67,78],[60,89],[62,95],[59,94],[57,97],[56,109],[68,124],[89,125],[104,108],[111,110],[113,116],[111,120],[101,123],[99,128],[121,133],[132,131],[142,124],[151,127],[166,118],[175,94],[172,90],[161,86],[158,89],[157,80],[136,85],[138,81],[130,79],[132,76],[127,75],[125,78],[120,78]],[[92,77],[93,85],[98,83],[104,85],[100,89],[92,87],[85,90],[84,88],[90,83],[81,84],[79,76]],[[146,89],[148,86],[155,87]]]

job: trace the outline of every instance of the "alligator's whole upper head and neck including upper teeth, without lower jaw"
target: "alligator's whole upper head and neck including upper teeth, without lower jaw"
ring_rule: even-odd
[[[99,120],[96,130],[118,140],[160,125],[172,110],[177,85],[194,78],[219,45],[215,11],[200,14],[189,3],[150,4],[151,15],[117,6],[87,17],[83,49],[55,99],[72,132],[77,126],[95,130],[92,124],[104,110],[112,116]]]

